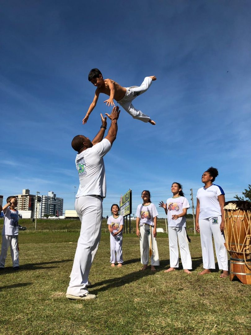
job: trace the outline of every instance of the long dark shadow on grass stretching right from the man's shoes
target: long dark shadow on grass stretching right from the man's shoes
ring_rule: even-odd
[[[102,280],[102,281],[99,281],[93,285],[90,286],[90,288],[93,288],[95,286],[101,286],[101,285],[106,285],[106,286],[103,286],[103,287],[100,287],[98,289],[94,289],[92,290],[91,293],[94,293],[94,294],[97,294],[98,292],[103,292],[103,291],[106,291],[112,287],[120,287],[120,286],[123,286],[125,284],[129,284],[129,283],[132,283],[134,281],[137,281],[143,277],[146,277],[146,276],[152,276],[154,275],[156,272],[153,272],[151,271],[149,268],[145,271],[134,271],[134,272],[131,272],[123,277],[116,277],[116,278],[110,278],[110,279],[106,279],[106,280]]]

